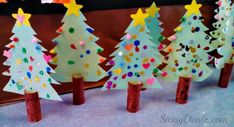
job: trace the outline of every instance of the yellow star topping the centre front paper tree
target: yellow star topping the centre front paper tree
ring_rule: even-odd
[[[145,26],[145,19],[149,16],[149,14],[144,14],[141,9],[138,9],[136,14],[132,14],[131,18],[134,21],[133,26],[142,25]]]

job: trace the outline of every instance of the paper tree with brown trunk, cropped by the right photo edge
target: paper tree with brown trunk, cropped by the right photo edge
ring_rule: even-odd
[[[218,49],[218,52],[223,57],[216,59],[215,62],[217,68],[222,68],[219,79],[219,86],[222,88],[228,87],[234,64],[234,5],[232,5],[231,13],[228,15],[226,24],[226,28],[223,29],[225,43],[224,46]]]

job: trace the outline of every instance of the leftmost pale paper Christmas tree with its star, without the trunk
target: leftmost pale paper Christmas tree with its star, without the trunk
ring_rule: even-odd
[[[31,14],[24,13],[21,8],[18,14],[12,15],[17,21],[13,28],[14,35],[11,37],[12,42],[6,45],[10,48],[4,51],[7,57],[4,65],[10,66],[9,70],[3,74],[11,76],[11,79],[4,87],[4,91],[24,94],[25,90],[38,92],[39,97],[51,100],[61,100],[56,91],[50,85],[58,84],[49,73],[53,69],[48,65],[49,56],[34,35],[36,33],[29,23]]]

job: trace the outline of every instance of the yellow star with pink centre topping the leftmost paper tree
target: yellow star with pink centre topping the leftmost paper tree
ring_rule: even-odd
[[[12,14],[12,17],[17,20],[16,23],[18,26],[21,26],[21,25],[30,26],[30,23],[28,20],[31,17],[31,14],[24,13],[21,8],[18,9],[18,14]]]

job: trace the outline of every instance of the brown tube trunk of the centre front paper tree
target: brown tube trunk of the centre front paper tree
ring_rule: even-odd
[[[128,83],[127,111],[136,113],[139,111],[142,83]]]

